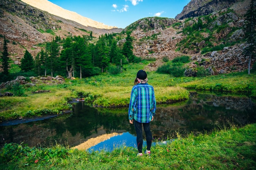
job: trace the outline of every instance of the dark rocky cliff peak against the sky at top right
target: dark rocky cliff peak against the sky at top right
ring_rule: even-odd
[[[191,0],[175,19],[183,20],[184,18],[209,15],[215,11],[228,9],[239,1],[243,0]]]

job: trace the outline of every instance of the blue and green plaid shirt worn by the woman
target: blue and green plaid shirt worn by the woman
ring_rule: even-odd
[[[148,123],[155,116],[156,101],[154,88],[148,83],[139,83],[132,87],[129,120],[135,119],[140,123]]]

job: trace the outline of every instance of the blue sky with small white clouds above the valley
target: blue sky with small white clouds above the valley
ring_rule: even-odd
[[[190,0],[49,0],[108,26],[125,28],[144,17],[174,18]]]

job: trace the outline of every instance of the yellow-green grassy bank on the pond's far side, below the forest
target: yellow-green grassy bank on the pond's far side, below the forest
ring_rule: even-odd
[[[43,114],[59,114],[63,110],[70,109],[67,102],[72,98],[79,98],[79,94],[85,95],[85,102],[88,105],[127,107],[136,73],[144,69],[149,62],[126,65],[126,69],[117,75],[104,73],[83,79],[66,79],[65,83],[58,85],[24,87],[25,96],[0,98],[0,122]],[[246,72],[239,72],[206,77],[173,77],[154,71],[147,73],[148,83],[154,86],[158,103],[186,100],[189,98],[189,90],[239,92],[256,98],[255,73],[248,75]],[[8,90],[10,89],[1,89],[1,92]],[[51,92],[32,94],[36,90],[51,90]]]

